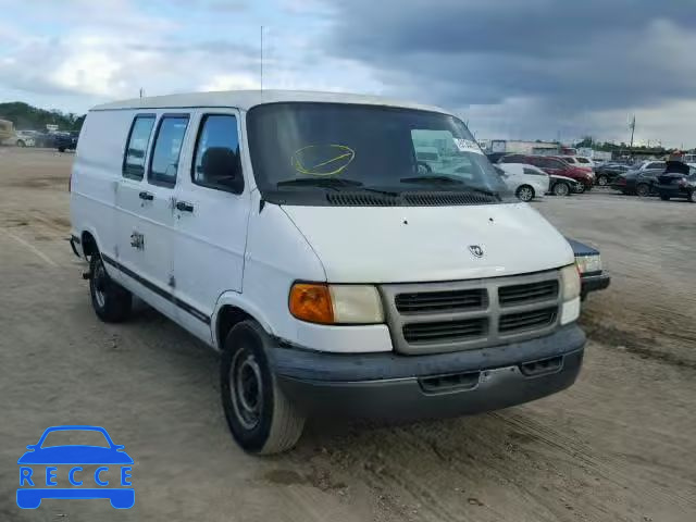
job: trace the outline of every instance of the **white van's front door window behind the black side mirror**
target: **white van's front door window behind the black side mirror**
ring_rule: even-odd
[[[196,142],[191,179],[203,187],[241,194],[244,176],[235,116],[229,114],[203,116]]]

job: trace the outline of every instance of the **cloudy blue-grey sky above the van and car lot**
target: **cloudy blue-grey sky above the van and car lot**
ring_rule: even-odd
[[[696,147],[696,0],[0,0],[0,102],[263,86],[445,107],[476,138]]]

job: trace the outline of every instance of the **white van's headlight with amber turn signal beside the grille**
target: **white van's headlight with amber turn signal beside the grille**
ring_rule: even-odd
[[[375,324],[384,322],[380,294],[371,285],[296,283],[290,289],[290,313],[321,324]]]

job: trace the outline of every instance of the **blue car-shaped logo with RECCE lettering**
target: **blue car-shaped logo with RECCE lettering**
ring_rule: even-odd
[[[51,434],[57,433],[63,436],[87,433],[100,444],[103,440],[103,445],[51,445],[47,437],[54,439]],[[49,427],[37,444],[26,448],[28,451],[17,460],[20,508],[36,509],[45,498],[108,498],[116,509],[129,509],[135,504],[135,489],[130,487],[133,459],[124,446],[111,440],[103,427]]]

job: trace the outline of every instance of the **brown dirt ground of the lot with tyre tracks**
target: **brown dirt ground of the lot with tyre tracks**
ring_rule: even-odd
[[[319,419],[260,459],[228,435],[215,353],[149,309],[95,316],[65,241],[72,158],[0,148],[0,521],[696,520],[696,204],[610,190],[534,203],[612,276],[584,306],[569,390],[406,426]],[[69,423],[126,446],[132,510],[16,507],[17,458]]]

